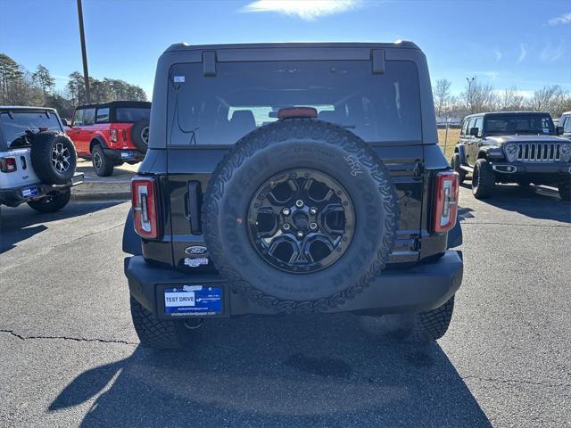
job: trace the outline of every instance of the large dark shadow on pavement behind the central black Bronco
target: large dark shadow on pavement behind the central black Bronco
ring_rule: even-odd
[[[189,350],[138,347],[79,374],[49,410],[96,397],[84,427],[492,426],[438,344],[390,342],[379,323],[209,320]]]

